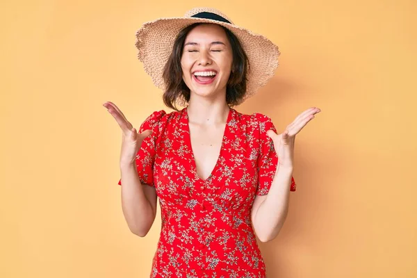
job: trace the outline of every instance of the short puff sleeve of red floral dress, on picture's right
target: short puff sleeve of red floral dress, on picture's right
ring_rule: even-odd
[[[272,142],[272,139],[266,132],[272,129],[272,131],[277,133],[277,129],[275,129],[272,120],[267,115],[254,113],[254,118],[259,124],[258,188],[256,189],[256,195],[266,195],[274,180],[279,159],[274,149],[274,142]],[[295,191],[295,188],[294,177],[291,177],[290,190]]]

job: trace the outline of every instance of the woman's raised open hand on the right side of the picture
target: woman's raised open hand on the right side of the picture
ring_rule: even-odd
[[[277,134],[272,130],[266,132],[272,139],[272,142],[274,142],[274,148],[275,152],[277,152],[279,163],[277,167],[280,165],[283,167],[293,167],[295,136],[308,122],[310,122],[311,119],[314,118],[314,114],[319,112],[319,108],[309,108],[298,115],[295,120],[286,127],[286,130],[283,133]]]

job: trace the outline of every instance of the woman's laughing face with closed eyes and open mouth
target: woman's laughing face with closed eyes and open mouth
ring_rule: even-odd
[[[192,93],[202,97],[226,94],[233,53],[221,26],[201,24],[184,42],[181,67],[183,81]]]

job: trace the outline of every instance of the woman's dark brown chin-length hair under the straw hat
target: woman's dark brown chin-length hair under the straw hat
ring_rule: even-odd
[[[195,23],[179,31],[177,38],[172,47],[172,53],[168,58],[163,71],[163,81],[165,82],[165,92],[163,93],[164,104],[178,111],[175,106],[179,99],[190,101],[190,89],[183,81],[183,72],[181,68],[181,57],[183,53],[183,45],[188,33],[196,26],[202,23]],[[221,25],[219,25],[221,26]],[[233,52],[233,62],[231,64],[231,73],[229,81],[227,81],[226,102],[229,106],[240,104],[246,93],[247,70],[249,68],[249,60],[242,45],[234,33],[228,28],[224,28],[227,38],[231,44]]]

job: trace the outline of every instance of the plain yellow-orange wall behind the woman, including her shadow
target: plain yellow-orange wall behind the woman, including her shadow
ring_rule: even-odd
[[[279,45],[274,79],[236,109],[297,135],[289,215],[268,277],[417,277],[415,1],[1,1],[0,277],[149,277],[160,215],[131,234],[122,134],[164,109],[136,60],[142,22],[196,5]],[[166,111],[170,111],[166,109]]]

